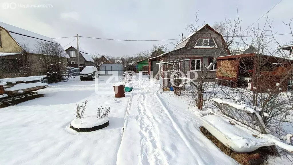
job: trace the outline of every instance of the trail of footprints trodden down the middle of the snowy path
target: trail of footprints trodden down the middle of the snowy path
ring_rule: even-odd
[[[158,130],[151,111],[147,108],[147,90],[140,81],[136,120],[140,126],[140,164],[168,164],[159,144]]]

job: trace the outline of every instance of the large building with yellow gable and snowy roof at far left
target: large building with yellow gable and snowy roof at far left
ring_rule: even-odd
[[[2,56],[4,59],[12,61],[14,65],[14,72],[19,71],[17,58],[22,58],[25,54],[27,57],[26,60],[30,63],[31,76],[46,74],[46,71],[42,69],[40,64],[40,59],[44,55],[37,53],[38,51],[36,45],[40,42],[50,42],[60,45],[55,40],[44,35],[33,33],[31,31],[0,22],[0,56]],[[64,60],[64,64],[67,64],[66,62],[69,56],[65,51],[64,57],[62,58]],[[16,75],[11,72],[11,77],[13,76]]]

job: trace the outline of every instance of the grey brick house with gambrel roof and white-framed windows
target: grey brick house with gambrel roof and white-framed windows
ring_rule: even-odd
[[[193,71],[197,73],[197,77],[200,77],[202,72],[207,72],[206,67],[213,61],[216,51],[220,52],[220,56],[231,55],[229,49],[226,48],[223,36],[206,24],[197,32],[183,38],[173,51],[149,58],[149,72],[155,75],[159,71],[159,75],[163,76],[163,71],[173,70],[168,67],[169,60],[180,58],[182,60],[179,65],[182,72],[186,74],[188,71]],[[216,69],[215,64],[206,77],[207,81],[215,80]],[[194,78],[196,75],[190,76]]]

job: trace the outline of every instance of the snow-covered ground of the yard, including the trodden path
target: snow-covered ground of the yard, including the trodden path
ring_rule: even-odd
[[[126,97],[114,98],[117,81],[108,78],[76,77],[40,90],[45,97],[1,108],[0,164],[237,164],[202,135],[184,94],[157,93],[159,84],[143,76]],[[69,128],[75,102],[85,100],[84,116],[96,115],[99,103],[111,107],[108,127]]]

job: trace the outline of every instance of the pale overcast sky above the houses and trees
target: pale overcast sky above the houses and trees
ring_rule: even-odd
[[[242,28],[247,28],[280,0],[0,0],[0,21],[51,38],[75,36],[128,40],[159,40],[189,35],[186,25],[199,11],[199,23],[213,25],[239,17]],[[16,9],[4,9],[4,3],[16,3]],[[21,8],[18,5],[50,4],[49,8]],[[283,0],[269,12],[276,33],[289,33],[282,21],[293,17],[292,0]],[[255,25],[263,25],[260,19]],[[292,36],[278,36],[282,43]],[[55,39],[62,46],[74,38]],[[133,55],[149,50],[154,44],[172,41],[109,41],[80,38],[81,49],[89,53],[106,53],[112,56]],[[174,42],[174,41],[173,41]],[[70,45],[76,46],[76,41]]]

